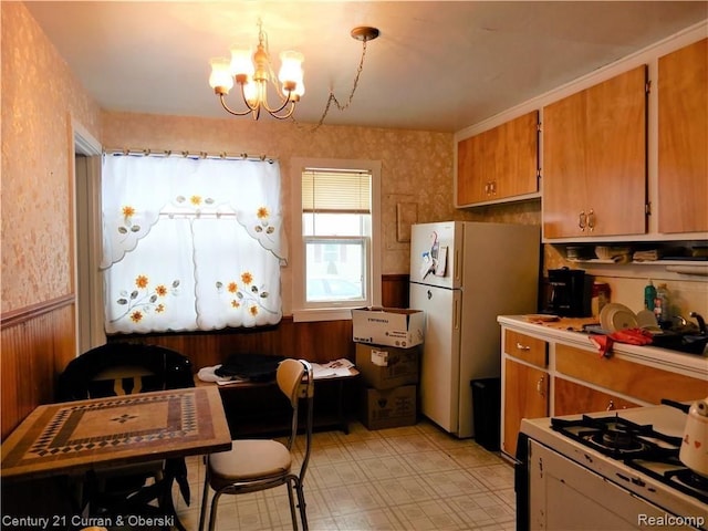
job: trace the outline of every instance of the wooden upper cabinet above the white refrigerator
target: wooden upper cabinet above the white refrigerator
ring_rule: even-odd
[[[533,111],[457,144],[457,204],[539,191],[539,113]]]

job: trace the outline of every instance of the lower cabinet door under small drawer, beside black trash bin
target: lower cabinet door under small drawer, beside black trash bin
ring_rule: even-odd
[[[517,437],[522,418],[549,415],[549,376],[545,371],[504,360],[504,425],[501,449],[517,454]]]

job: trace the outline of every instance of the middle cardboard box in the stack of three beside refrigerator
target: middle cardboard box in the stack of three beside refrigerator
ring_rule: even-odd
[[[356,343],[355,364],[366,385],[376,389],[417,384],[420,377],[420,346],[396,348]]]

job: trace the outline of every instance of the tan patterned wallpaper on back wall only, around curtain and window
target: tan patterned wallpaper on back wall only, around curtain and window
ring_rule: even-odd
[[[215,105],[217,102],[215,101]],[[285,216],[290,209],[290,160],[293,157],[363,158],[382,162],[383,272],[408,273],[409,243],[396,233],[396,207],[415,204],[417,220],[487,219],[540,222],[535,206],[507,206],[462,211],[452,206],[454,138],[451,134],[277,122],[269,117],[195,118],[104,113],[107,148],[150,148],[268,155],[280,160]],[[283,295],[290,292],[288,268]]]

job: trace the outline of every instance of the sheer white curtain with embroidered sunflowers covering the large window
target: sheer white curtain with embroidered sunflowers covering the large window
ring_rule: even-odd
[[[278,163],[106,155],[102,179],[107,333],[281,320]]]

